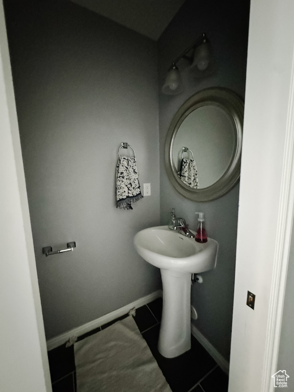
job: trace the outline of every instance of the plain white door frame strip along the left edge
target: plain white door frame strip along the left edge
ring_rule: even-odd
[[[52,391],[20,149],[3,2],[0,2],[0,385]]]

